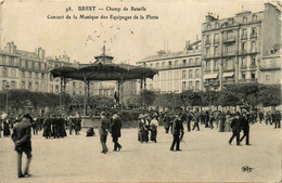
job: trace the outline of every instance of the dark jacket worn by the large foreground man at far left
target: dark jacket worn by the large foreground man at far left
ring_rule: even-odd
[[[13,129],[12,140],[18,141],[18,145],[15,145],[15,151],[28,152],[31,151],[31,127],[29,122],[17,122]]]

